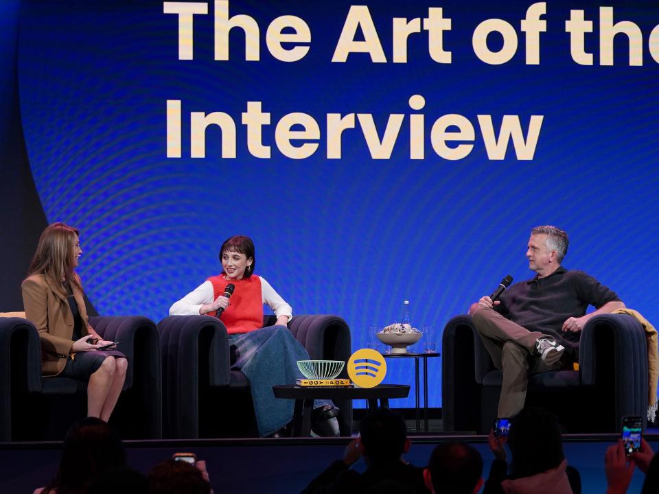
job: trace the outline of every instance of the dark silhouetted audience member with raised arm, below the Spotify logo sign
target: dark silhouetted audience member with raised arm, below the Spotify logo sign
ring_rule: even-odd
[[[428,493],[422,470],[402,459],[410,445],[400,415],[379,408],[362,421],[360,437],[347,445],[343,460],[333,462],[303,493]],[[366,471],[351,470],[362,456]]]

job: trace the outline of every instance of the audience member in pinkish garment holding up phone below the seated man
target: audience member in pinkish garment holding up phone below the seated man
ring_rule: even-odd
[[[511,421],[507,443],[511,452],[508,471],[506,438],[489,433],[495,460],[485,482],[484,494],[580,494],[579,472],[568,467],[563,454],[561,428],[556,418],[541,408],[524,408]]]

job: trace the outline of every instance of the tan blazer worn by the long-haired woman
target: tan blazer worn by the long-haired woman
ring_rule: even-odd
[[[73,314],[67,298],[58,294],[43,274],[32,274],[21,284],[25,318],[39,331],[41,339],[41,371],[43,375],[58,375],[66,364],[73,346]],[[84,322],[82,336],[99,338],[89,325],[82,292],[72,286],[73,296]]]

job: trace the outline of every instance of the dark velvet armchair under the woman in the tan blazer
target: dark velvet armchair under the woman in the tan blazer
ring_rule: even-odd
[[[140,316],[91,317],[128,357],[124,392],[110,422],[124,439],[161,438],[161,358],[154,322]],[[41,376],[41,344],[32,322],[0,318],[0,441],[61,440],[86,414],[86,383]]]

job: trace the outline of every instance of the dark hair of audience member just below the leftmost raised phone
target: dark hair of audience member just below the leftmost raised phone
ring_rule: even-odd
[[[209,494],[211,485],[192,464],[166,460],[149,472],[150,494]]]

